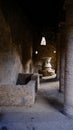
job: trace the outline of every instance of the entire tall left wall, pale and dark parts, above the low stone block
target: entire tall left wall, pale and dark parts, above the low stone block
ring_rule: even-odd
[[[18,73],[31,72],[31,26],[21,9],[0,1],[0,85],[16,84]]]

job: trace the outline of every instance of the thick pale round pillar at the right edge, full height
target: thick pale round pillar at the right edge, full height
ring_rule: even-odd
[[[71,3],[70,3],[71,2]],[[66,6],[66,60],[65,60],[65,92],[64,111],[73,117],[73,1],[67,0]]]

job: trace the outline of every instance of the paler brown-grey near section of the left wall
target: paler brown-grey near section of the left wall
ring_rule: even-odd
[[[10,27],[0,10],[0,85],[16,84],[22,64],[17,48],[13,47]]]

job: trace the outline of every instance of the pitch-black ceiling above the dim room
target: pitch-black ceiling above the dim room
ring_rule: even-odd
[[[64,0],[21,0],[21,6],[35,26],[57,26],[64,19]]]

